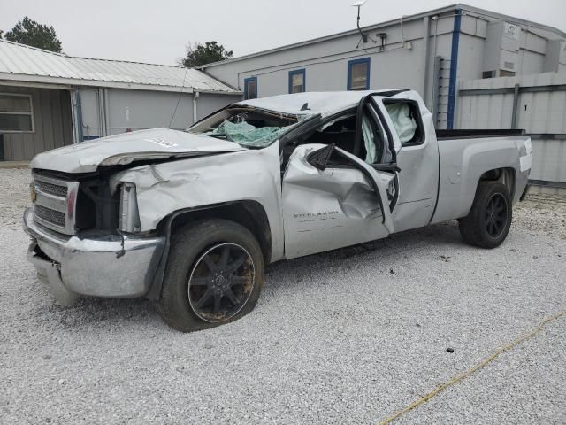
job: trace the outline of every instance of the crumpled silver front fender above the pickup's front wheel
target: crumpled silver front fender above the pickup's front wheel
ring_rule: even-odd
[[[173,212],[251,200],[262,205],[272,229],[272,258],[283,255],[279,146],[188,158],[130,168],[111,177],[136,186],[142,232]]]

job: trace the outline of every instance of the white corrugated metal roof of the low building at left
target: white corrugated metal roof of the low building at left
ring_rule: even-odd
[[[0,40],[0,83],[2,81],[187,93],[241,93],[197,69],[77,58],[4,40]]]

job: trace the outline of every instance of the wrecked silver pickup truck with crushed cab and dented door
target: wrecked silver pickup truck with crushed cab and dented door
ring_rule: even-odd
[[[37,155],[28,258],[64,305],[147,297],[172,328],[210,328],[254,308],[274,261],[454,219],[500,245],[531,163],[526,136],[437,135],[411,90],[246,100]]]

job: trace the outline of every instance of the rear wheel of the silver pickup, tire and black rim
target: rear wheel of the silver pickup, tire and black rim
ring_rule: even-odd
[[[458,220],[460,235],[470,245],[496,248],[507,237],[512,219],[509,189],[497,182],[479,182],[470,213]]]

